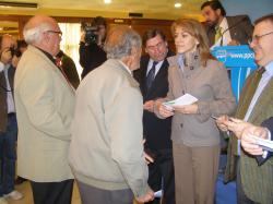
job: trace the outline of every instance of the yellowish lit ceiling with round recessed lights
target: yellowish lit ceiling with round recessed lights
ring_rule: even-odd
[[[5,1],[5,0],[4,0]],[[38,10],[69,10],[71,13],[81,11],[115,13],[112,17],[123,17],[129,12],[143,13],[145,19],[177,19],[181,16],[191,16],[202,19],[200,5],[205,0],[112,0],[112,3],[105,4],[104,0],[9,0],[13,2],[35,2],[38,3]],[[182,7],[175,9],[175,2],[182,3]],[[7,9],[1,9],[7,10]],[[22,10],[22,9],[20,9]],[[74,14],[72,14],[74,15]],[[92,13],[91,13],[92,15]],[[107,16],[107,15],[106,15]]]

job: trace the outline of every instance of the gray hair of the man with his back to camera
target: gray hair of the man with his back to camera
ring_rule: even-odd
[[[104,49],[108,59],[121,59],[131,55],[132,48],[141,48],[140,35],[128,26],[115,26],[106,37]]]

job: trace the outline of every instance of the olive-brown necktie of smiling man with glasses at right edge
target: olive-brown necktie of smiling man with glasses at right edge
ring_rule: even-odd
[[[256,71],[253,79],[251,80],[251,82],[249,83],[248,89],[246,91],[245,97],[244,97],[244,104],[241,105],[240,108],[238,108],[236,117],[244,119],[249,105],[254,96],[256,89],[259,85],[259,82],[262,79],[262,74],[264,73],[265,69],[264,68],[260,68],[259,70]]]

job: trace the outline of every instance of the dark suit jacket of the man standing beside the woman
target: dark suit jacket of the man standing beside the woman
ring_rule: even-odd
[[[174,56],[168,51],[167,57]],[[149,65],[149,56],[141,58],[140,69],[134,72],[135,79],[140,83],[140,89],[143,96],[143,103],[164,98],[168,93],[168,67],[167,58],[164,60],[158,73],[156,74],[151,88],[146,88],[146,72]],[[171,148],[170,140],[171,118],[165,120],[158,119],[153,112],[144,110],[143,112],[143,133],[146,139],[145,147],[156,154],[157,149]]]

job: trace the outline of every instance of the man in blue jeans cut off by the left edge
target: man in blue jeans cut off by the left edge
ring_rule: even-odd
[[[13,99],[15,68],[12,50],[15,41],[11,35],[0,36],[0,203],[5,197],[20,200],[23,195],[14,190],[17,122]]]

